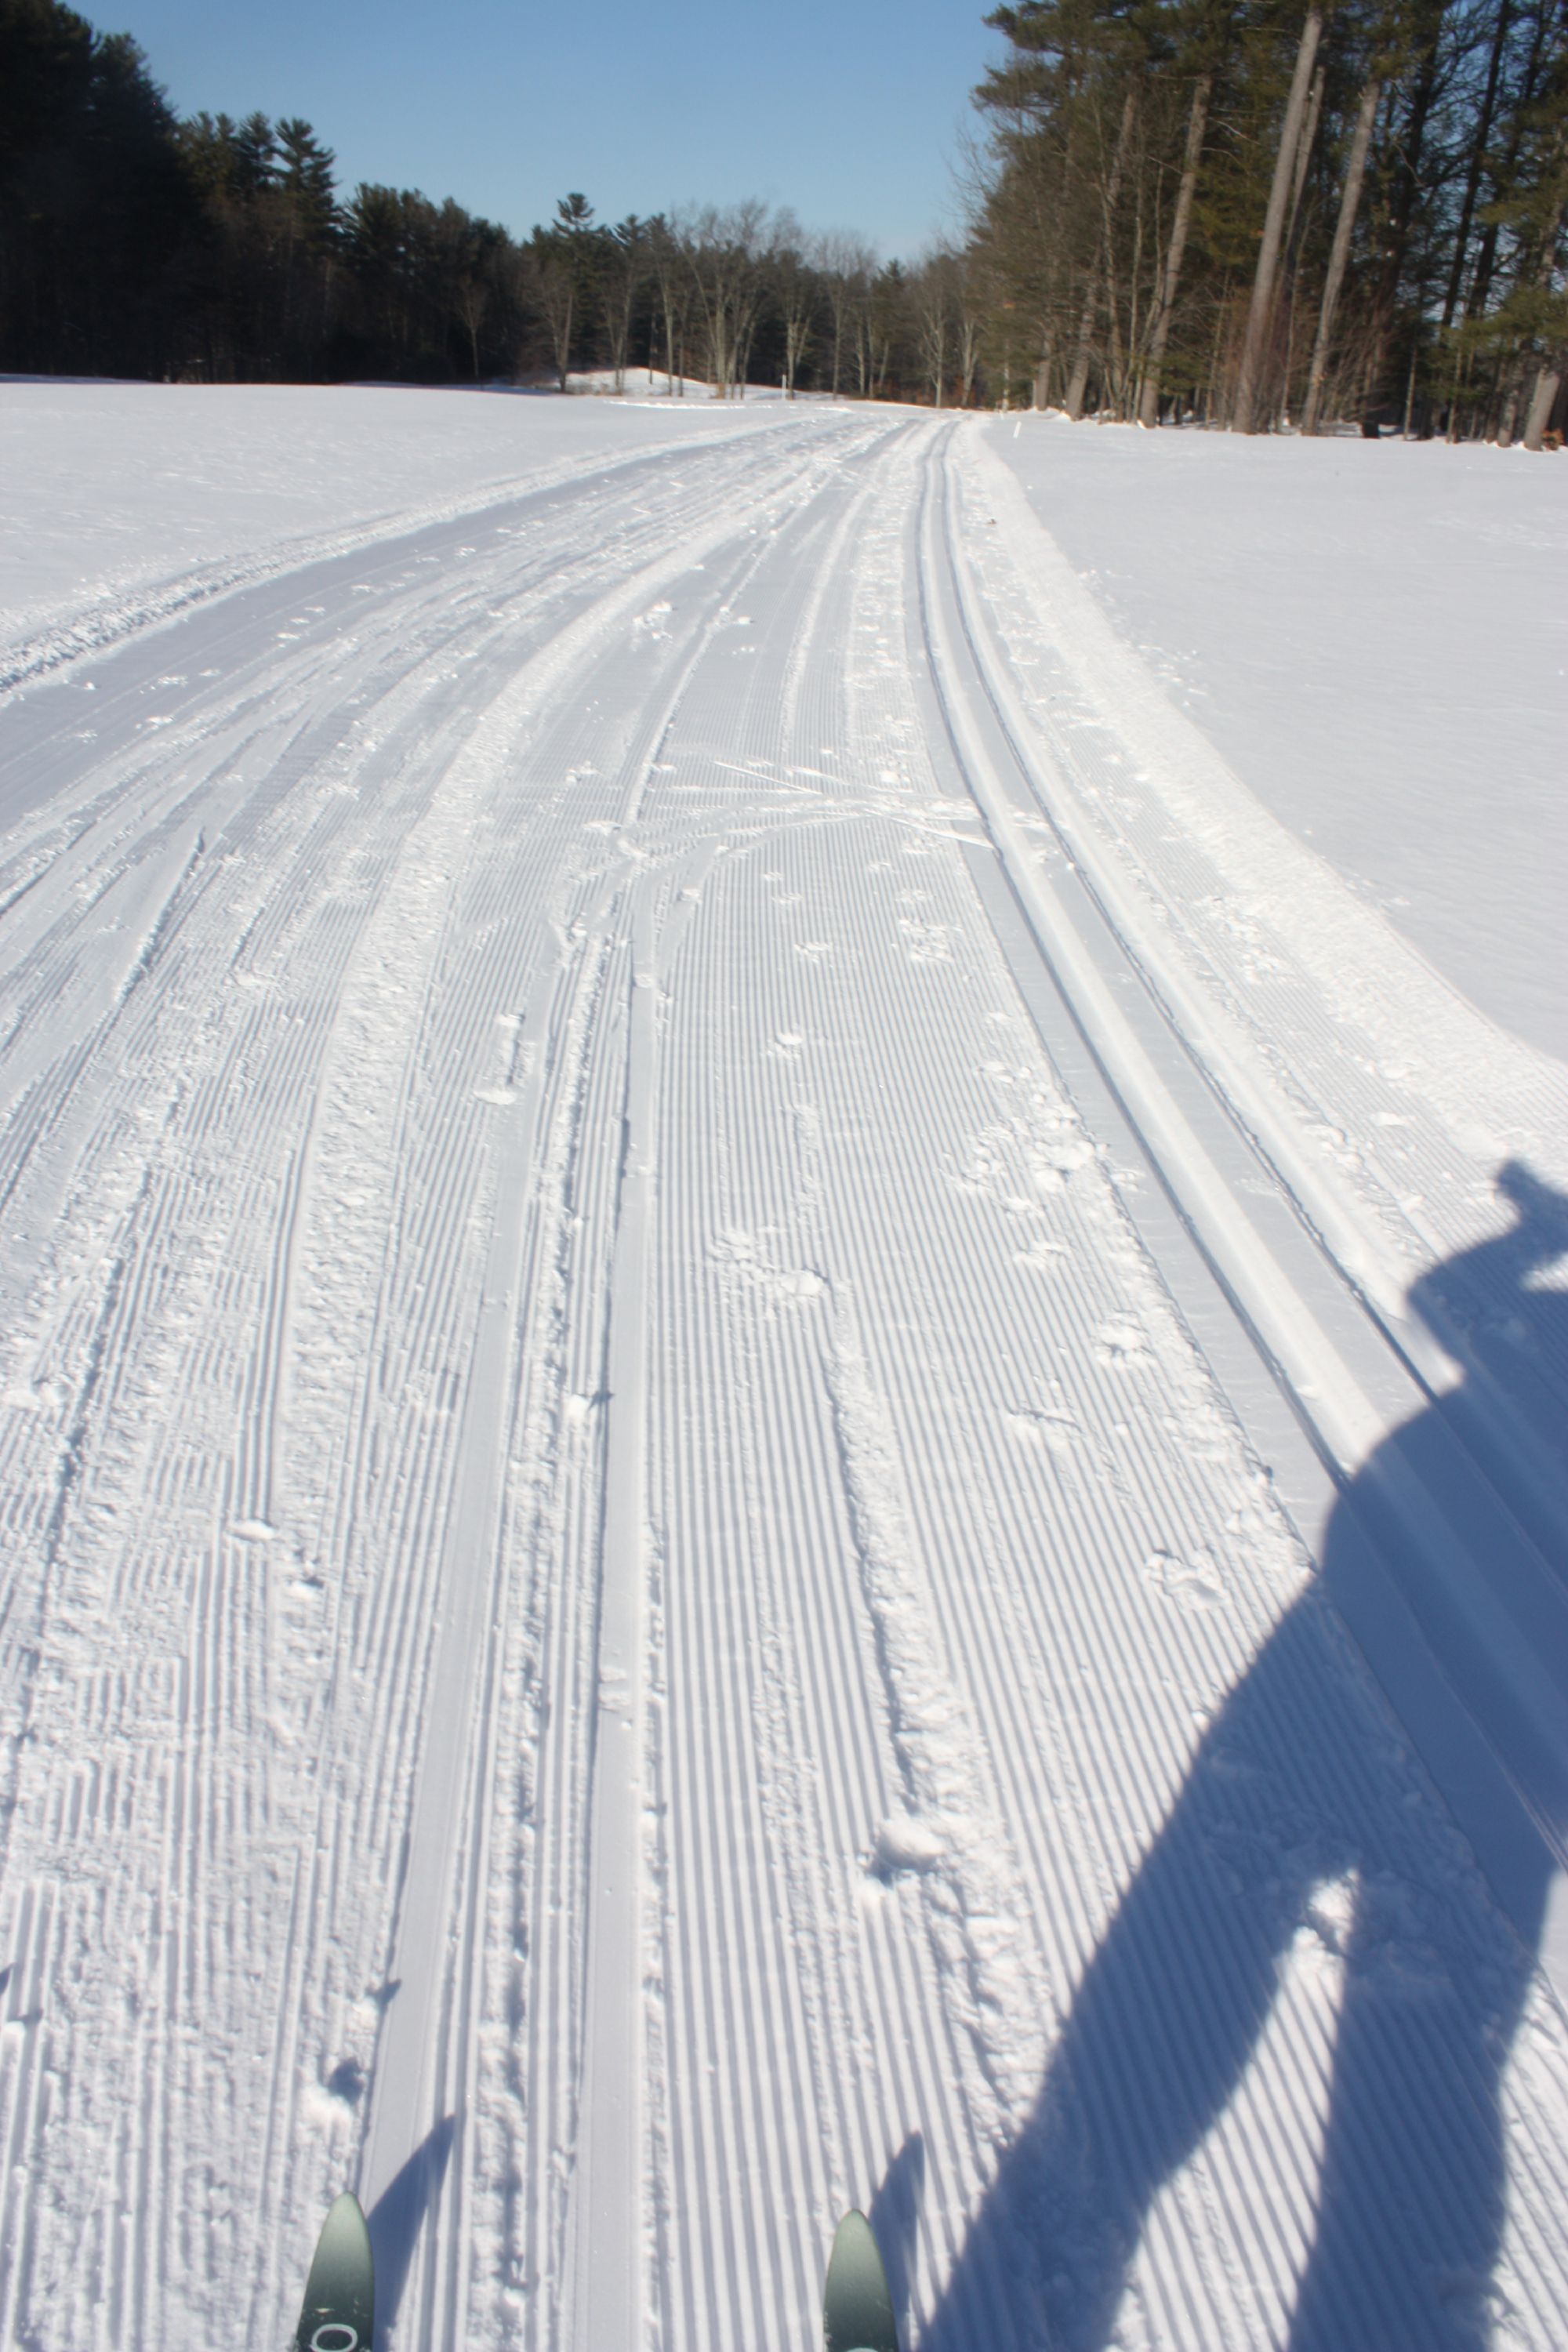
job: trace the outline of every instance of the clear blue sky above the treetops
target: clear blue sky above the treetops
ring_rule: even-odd
[[[527,230],[759,195],[917,252],[957,219],[990,0],[75,0],[181,113],[306,115],[339,181]]]

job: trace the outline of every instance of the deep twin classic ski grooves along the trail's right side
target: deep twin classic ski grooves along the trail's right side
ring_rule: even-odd
[[[943,468],[929,485],[929,522],[933,515],[943,515],[940,562],[947,567],[943,579],[952,583],[954,626],[973,670],[973,684],[959,670],[954,647],[936,619],[940,597],[936,527],[926,539],[929,642],[933,668],[943,680],[954,746],[987,818],[990,840],[1025,920],[1039,936],[1039,953],[1053,985],[1065,990],[1074,1004],[1084,1042],[1117,1091],[1119,1108],[1131,1117],[1138,1148],[1197,1240],[1211,1275],[1222,1287],[1269,1376],[1284,1390],[1314,1451],[1335,1484],[1347,1486],[1385,1428],[1413,1421],[1432,1406],[1441,1409],[1441,1390],[1432,1385],[1420,1362],[1422,1352],[1427,1359],[1432,1357],[1432,1348],[1422,1350],[1410,1324],[1401,1315],[1382,1310],[1359,1282],[1361,1251],[1338,1211],[1333,1185],[1302,1162],[1300,1148],[1291,1148],[1267,1098],[1255,1091],[1237,1098],[1232,1089],[1244,1087],[1239,1068],[1227,1070],[1227,1087],[1215,1075],[1213,1063],[1197,1061],[1190,1040],[1182,1037],[1171,1016],[1166,990],[1159,988],[1157,976],[1150,974],[1107,908],[1107,898],[1114,898],[1117,889],[1114,877],[1093,854],[1084,851],[1077,837],[1063,830],[1051,795],[1051,776],[1060,769],[1046,769],[1041,776],[1041,769],[1030,767],[1027,753],[1020,748],[1027,720],[1018,696],[1009,691],[999,649],[985,635],[973,581],[966,579],[964,541],[947,520],[950,496],[950,468]],[[976,727],[976,689],[992,703],[994,720],[1001,722],[1004,757],[1011,760],[1018,783],[1027,788],[1030,809],[1039,809],[1051,826],[1058,854],[1081,884],[1091,920],[1098,920],[1105,931],[1117,960],[1114,969],[1105,962],[1095,967],[1093,950],[1086,953],[1081,917],[1074,922],[1060,901],[1060,882],[1056,880],[1060,866],[1056,873],[1044,873],[1041,858],[1032,854],[1020,833],[1018,804],[1009,797],[1004,771],[994,757],[987,757]],[[1009,722],[1018,731],[1009,731]],[[1060,741],[1053,741],[1051,750],[1058,760],[1070,757]],[[1187,1063],[1204,1082],[1241,1145],[1241,1167],[1251,1167],[1251,1183],[1246,1174],[1237,1181],[1234,1167],[1225,1171],[1229,1176],[1225,1183],[1204,1136],[1190,1124],[1147,1051],[1147,1023],[1140,1042],[1119,1004],[1112,1002],[1107,981],[1121,976],[1138,983],[1161,1018],[1159,1044],[1166,1068],[1173,1061]],[[1265,1138],[1272,1141],[1272,1150]],[[1281,1232],[1279,1221],[1272,1230],[1260,1223],[1246,1195],[1265,1188],[1274,1190],[1298,1232],[1291,1228]],[[1220,1200],[1227,1204],[1225,1216],[1215,1216]],[[1293,1240],[1298,1242],[1295,1251],[1288,1247]],[[1328,1275],[1333,1296],[1324,1289],[1312,1296],[1305,1289],[1302,1270],[1312,1282],[1319,1268]],[[1366,1383],[1366,1395],[1359,1381]],[[1526,1534],[1533,1517],[1535,1461],[1528,1451],[1521,1458],[1521,1449],[1497,1442],[1500,1432],[1490,1416],[1474,1418],[1469,1435],[1490,1439],[1490,1444],[1481,1454],[1472,1454],[1467,1425],[1453,1425],[1453,1484],[1439,1498],[1450,1508],[1450,1519],[1439,1517],[1432,1496],[1410,1486],[1394,1489],[1387,1501],[1399,1519],[1401,1550],[1422,1559],[1427,1613],[1439,1611],[1439,1623],[1453,1616],[1460,1639],[1474,1642],[1479,1651],[1488,1653],[1505,1693],[1502,1712],[1514,1710],[1530,1726],[1528,1745],[1519,1743],[1514,1752],[1505,1745],[1505,1769],[1512,1769],[1516,1780],[1514,1802],[1521,1813],[1521,1832],[1540,1839],[1544,1867],[1561,1872],[1568,1860],[1561,1842],[1561,1820],[1568,1818],[1568,1700],[1563,1698],[1568,1599],[1547,1557]],[[1455,1508],[1455,1496],[1460,1508]],[[1455,1562],[1450,1536],[1455,1524],[1481,1524],[1486,1536],[1483,1543],[1472,1538],[1462,1564]],[[1509,1599],[1507,1613],[1497,1611],[1497,1595]],[[1455,1705],[1462,1708],[1467,1684],[1453,1649],[1443,1663],[1450,1675],[1460,1677]],[[1380,1658],[1373,1651],[1373,1668],[1378,1665]],[[1490,1677],[1476,1682],[1476,1689],[1483,1698],[1493,1698]],[[1495,1743],[1497,1708],[1493,1705],[1488,1712]],[[1509,1731],[1514,1729],[1509,1724]],[[1439,1764],[1436,1757],[1434,1764]],[[1554,1945],[1544,1957],[1559,1997],[1568,2002],[1568,1940],[1561,1947]]]

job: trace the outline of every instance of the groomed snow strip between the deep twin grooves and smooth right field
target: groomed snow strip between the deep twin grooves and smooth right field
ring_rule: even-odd
[[[1335,1279],[1356,1289],[1425,1388],[1448,1388],[1453,1359],[1465,1364],[1455,1411],[1469,1421],[1467,1442],[1502,1465],[1542,1548],[1561,1550],[1561,1331],[1544,1322],[1528,1350],[1514,1348],[1509,1392],[1495,1397],[1486,1338],[1516,1312],[1507,1254],[1467,1263],[1425,1298],[1441,1343],[1401,1298],[1401,1275],[1495,1230],[1500,1160],[1542,1152],[1552,1164],[1561,1152],[1561,1063],[1450,997],[1396,934],[1368,936],[1375,922],[1340,946],[1333,924],[1345,927],[1345,908],[1319,903],[1312,851],[1164,706],[1138,656],[1112,642],[1093,597],[1070,583],[1063,557],[1009,499],[997,452],[971,435],[950,475],[969,548],[966,626],[1006,736],[1025,750],[1025,767],[1051,776],[1053,835],[1093,873],[1100,915],[1140,988],[1161,1000],[1206,1082],[1229,1094],[1229,1115],[1312,1218]],[[1103,675],[1084,675],[1095,659]],[[1237,866],[1251,875],[1251,898],[1232,884]],[[1302,943],[1293,924],[1314,920]],[[1413,1030],[1410,1004],[1422,1002],[1439,1051]]]

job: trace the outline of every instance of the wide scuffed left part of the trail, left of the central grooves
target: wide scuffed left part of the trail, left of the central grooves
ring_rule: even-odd
[[[489,722],[491,769],[461,774],[475,713],[510,694],[510,724],[527,727],[527,689],[517,708],[510,680],[531,654],[548,663],[552,644],[569,649],[574,626],[592,647],[607,626],[595,597],[609,626],[628,628],[639,581],[722,550],[733,515],[745,520],[726,562],[743,572],[745,534],[813,494],[827,442],[842,452],[860,437],[682,452],[642,482],[623,470],[557,499],[555,513],[524,501],[517,520],[491,517],[484,550],[458,553],[461,529],[440,557],[388,550],[348,642],[331,626],[313,642],[313,581],[280,590],[301,614],[282,659],[268,642],[256,661],[235,607],[214,609],[205,637],[188,623],[158,654],[169,661],[179,642],[186,656],[193,635],[202,652],[240,637],[237,691],[197,687],[148,741],[136,724],[148,680],[110,701],[103,675],[92,717],[99,739],[118,724],[125,750],[106,764],[89,748],[75,795],[56,793],[7,844],[21,931],[2,1181],[16,1244],[12,1402],[28,1411],[7,1414],[0,1435],[5,1670],[12,1722],[33,1726],[42,1759],[7,1820],[24,1938],[7,2013],[33,2018],[24,2004],[52,1985],[49,2023],[7,2034],[7,2060],[21,2058],[16,2103],[7,2093],[14,2324],[38,2291],[40,2227],[49,2270],[75,2281],[42,2288],[75,2296],[73,2340],[181,2336],[186,2310],[200,2333],[202,2296],[233,2310],[233,2277],[214,2277],[235,2258],[256,2279],[254,2328],[287,2305],[292,2239],[320,2187],[280,2152],[308,2093],[317,2133],[327,2124],[324,2187],[329,2145],[353,2133],[369,2077],[369,1994],[386,1962],[369,1978],[341,1971],[362,1969],[395,1891],[437,1531],[465,1479],[454,1430],[494,1451],[496,1399],[484,1399],[489,1435],[454,1402],[484,1270],[475,1216],[494,1183],[484,1127],[496,1115],[454,1105],[503,1075],[491,1011],[527,1011],[531,995],[548,1011],[569,844],[595,793],[611,826],[621,797],[611,727],[607,783],[592,762],[574,783],[562,743],[531,790],[496,800],[505,720]],[[701,621],[703,604],[689,609]],[[632,659],[654,644],[630,637]],[[654,647],[656,661],[670,649]],[[155,708],[183,682],[165,680]],[[581,762],[581,722],[562,734]],[[487,828],[501,835],[498,894],[477,858]],[[520,835],[531,835],[522,856]],[[155,875],[160,861],[167,880],[120,913],[118,877]],[[89,936],[96,908],[113,908],[99,920],[125,936],[125,978],[108,990]],[[569,929],[564,903],[562,920]],[[552,1068],[545,1014],[536,1023],[538,1063]],[[40,1719],[45,1642],[61,1679]],[[101,1656],[127,1663],[106,1675]],[[89,1724],[103,1766],[85,1771]],[[21,1745],[9,1755],[31,1764]],[[310,1813],[320,1828],[301,1844]],[[148,1882],[160,1818],[165,1860]],[[134,1846],[115,1867],[127,1825]],[[444,1912],[461,1886],[430,1898]],[[115,2013],[139,2020],[129,2042]],[[26,2089],[49,2034],[71,2039],[78,2145],[101,2147],[101,2166],[61,2183],[54,2220],[38,2197],[42,2119]],[[127,2072],[139,2084],[129,2110]],[[310,2091],[313,2077],[339,2089]],[[186,2150],[212,2145],[214,2122],[223,2136],[226,2110],[263,2119],[242,2246],[193,2260],[202,2199],[188,2194]],[[99,2232],[103,2171],[136,2230]],[[240,2185],[216,2173],[212,2185],[237,2211]]]

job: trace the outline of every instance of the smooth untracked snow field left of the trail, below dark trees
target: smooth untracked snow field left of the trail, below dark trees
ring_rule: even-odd
[[[581,383],[604,390],[599,379]],[[404,386],[0,379],[0,644],[101,642],[158,588],[233,586],[414,513],[468,513],[592,454],[729,433],[769,397],[621,400]],[[0,668],[0,677],[5,670]]]

